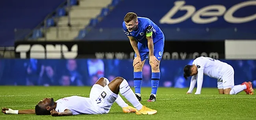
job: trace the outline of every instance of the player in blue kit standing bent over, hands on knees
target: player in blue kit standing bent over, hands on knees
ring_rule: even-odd
[[[127,13],[122,26],[135,52],[133,61],[135,96],[141,101],[142,68],[145,59],[149,57],[149,64],[152,70],[152,90],[148,102],[155,102],[160,80],[159,65],[165,40],[163,32],[152,20],[145,17],[137,17],[136,13]]]

